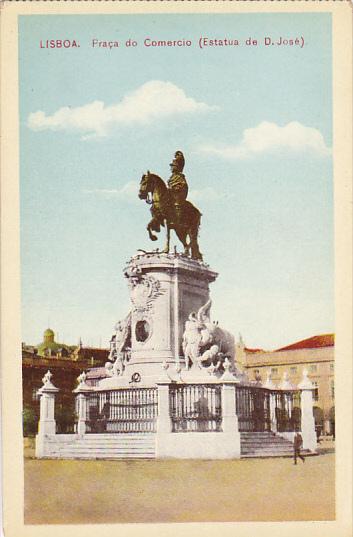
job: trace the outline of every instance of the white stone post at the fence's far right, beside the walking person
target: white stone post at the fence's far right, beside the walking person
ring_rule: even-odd
[[[308,378],[306,369],[303,371],[303,380],[298,384],[298,389],[301,390],[301,435],[303,438],[303,449],[316,451],[317,439],[313,413],[313,384]]]

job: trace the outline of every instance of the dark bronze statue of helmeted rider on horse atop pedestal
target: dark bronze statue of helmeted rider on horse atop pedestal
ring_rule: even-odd
[[[185,165],[184,155],[177,151],[170,164],[172,175],[168,185],[158,175],[149,171],[142,176],[139,198],[151,205],[152,219],[147,225],[147,231],[152,241],[157,237],[161,226],[167,229],[167,242],[163,253],[169,253],[170,230],[174,229],[178,239],[184,246],[184,254],[192,259],[202,260],[197,241],[201,220],[200,211],[186,198],[188,184],[183,174]]]

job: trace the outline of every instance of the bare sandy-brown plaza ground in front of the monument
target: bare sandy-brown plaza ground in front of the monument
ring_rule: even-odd
[[[335,455],[197,460],[36,460],[25,523],[333,520]],[[32,453],[29,452],[29,455]]]

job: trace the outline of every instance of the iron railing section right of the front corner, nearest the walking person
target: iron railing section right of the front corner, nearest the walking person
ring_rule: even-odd
[[[300,391],[237,386],[235,408],[240,432],[300,429]]]

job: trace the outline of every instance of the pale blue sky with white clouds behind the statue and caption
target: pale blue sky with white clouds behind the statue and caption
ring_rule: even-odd
[[[167,179],[177,149],[219,272],[213,319],[268,349],[334,330],[329,14],[25,16],[19,33],[24,341],[50,323],[107,344],[129,308],[125,262],[164,239],[148,239],[139,180]],[[201,50],[201,36],[240,45]]]

